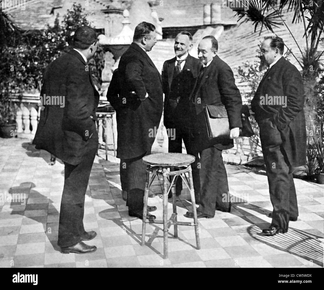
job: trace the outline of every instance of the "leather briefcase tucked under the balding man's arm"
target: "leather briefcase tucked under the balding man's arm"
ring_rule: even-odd
[[[251,137],[254,135],[253,129],[249,121],[249,107],[242,105],[241,122],[239,136]],[[229,139],[229,123],[228,116],[224,105],[206,105],[205,118],[209,140],[213,139]]]

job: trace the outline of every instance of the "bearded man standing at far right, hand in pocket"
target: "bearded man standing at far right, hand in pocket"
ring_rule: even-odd
[[[304,86],[297,68],[283,57],[282,38],[266,37],[261,53],[270,68],[259,84],[251,109],[260,127],[273,206],[271,226],[262,232],[274,236],[286,233],[289,221],[298,217],[291,167],[306,163]]]

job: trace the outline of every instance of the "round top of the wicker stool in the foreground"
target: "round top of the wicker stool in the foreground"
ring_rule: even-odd
[[[160,166],[188,165],[194,161],[194,156],[182,153],[156,153],[143,157],[145,164]]]

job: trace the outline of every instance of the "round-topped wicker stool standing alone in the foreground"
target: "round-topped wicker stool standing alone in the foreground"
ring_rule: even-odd
[[[198,219],[196,212],[196,202],[195,195],[193,190],[193,182],[192,182],[192,173],[191,173],[191,163],[195,161],[195,157],[188,154],[181,153],[157,153],[151,154],[143,157],[143,162],[147,164],[147,171],[152,172],[153,176],[150,179],[149,174],[147,178],[147,182],[145,184],[145,194],[144,194],[144,209],[143,209],[143,229],[142,229],[142,246],[145,245],[145,230],[146,223],[154,223],[154,224],[163,224],[163,249],[164,249],[164,259],[168,258],[168,230],[171,225],[174,225],[174,236],[178,237],[178,225],[191,225],[195,228],[196,235],[196,244],[197,249],[200,249],[200,241],[199,241],[199,233],[198,233]],[[177,170],[174,170],[174,169]],[[189,180],[185,173],[188,172]],[[184,176],[182,176],[182,174]],[[158,178],[158,175],[163,176],[163,221],[154,220],[150,221],[146,219],[147,213],[147,199],[149,187],[154,181],[155,177]],[[177,221],[177,205],[175,201],[175,183],[178,177],[181,177],[184,181],[185,185],[190,189],[190,196],[192,202],[192,210],[194,213],[194,222],[178,222]],[[168,185],[170,183],[170,185]],[[160,184],[161,186],[161,184]],[[162,186],[161,186],[162,187]],[[172,203],[173,203],[173,213],[168,219],[168,193],[173,187],[172,194]],[[162,189],[162,188],[161,188]]]

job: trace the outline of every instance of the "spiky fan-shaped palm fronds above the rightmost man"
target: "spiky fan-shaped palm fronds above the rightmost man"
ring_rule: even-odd
[[[239,2],[239,1],[238,1]],[[245,1],[244,1],[245,2]],[[241,7],[241,6],[236,6]],[[254,24],[254,32],[258,25],[260,33],[265,27],[274,33],[273,28],[284,25],[302,54],[302,62],[293,54],[299,65],[303,68],[303,75],[312,77],[320,66],[319,58],[323,52],[318,53],[318,45],[321,34],[324,33],[324,4],[323,0],[247,0],[245,9],[233,9],[237,12],[239,20],[251,21]],[[306,49],[302,50],[294,35],[283,19],[283,11],[292,11],[294,16],[292,23],[302,22]],[[260,35],[260,34],[259,34]],[[316,74],[315,74],[316,75]]]

